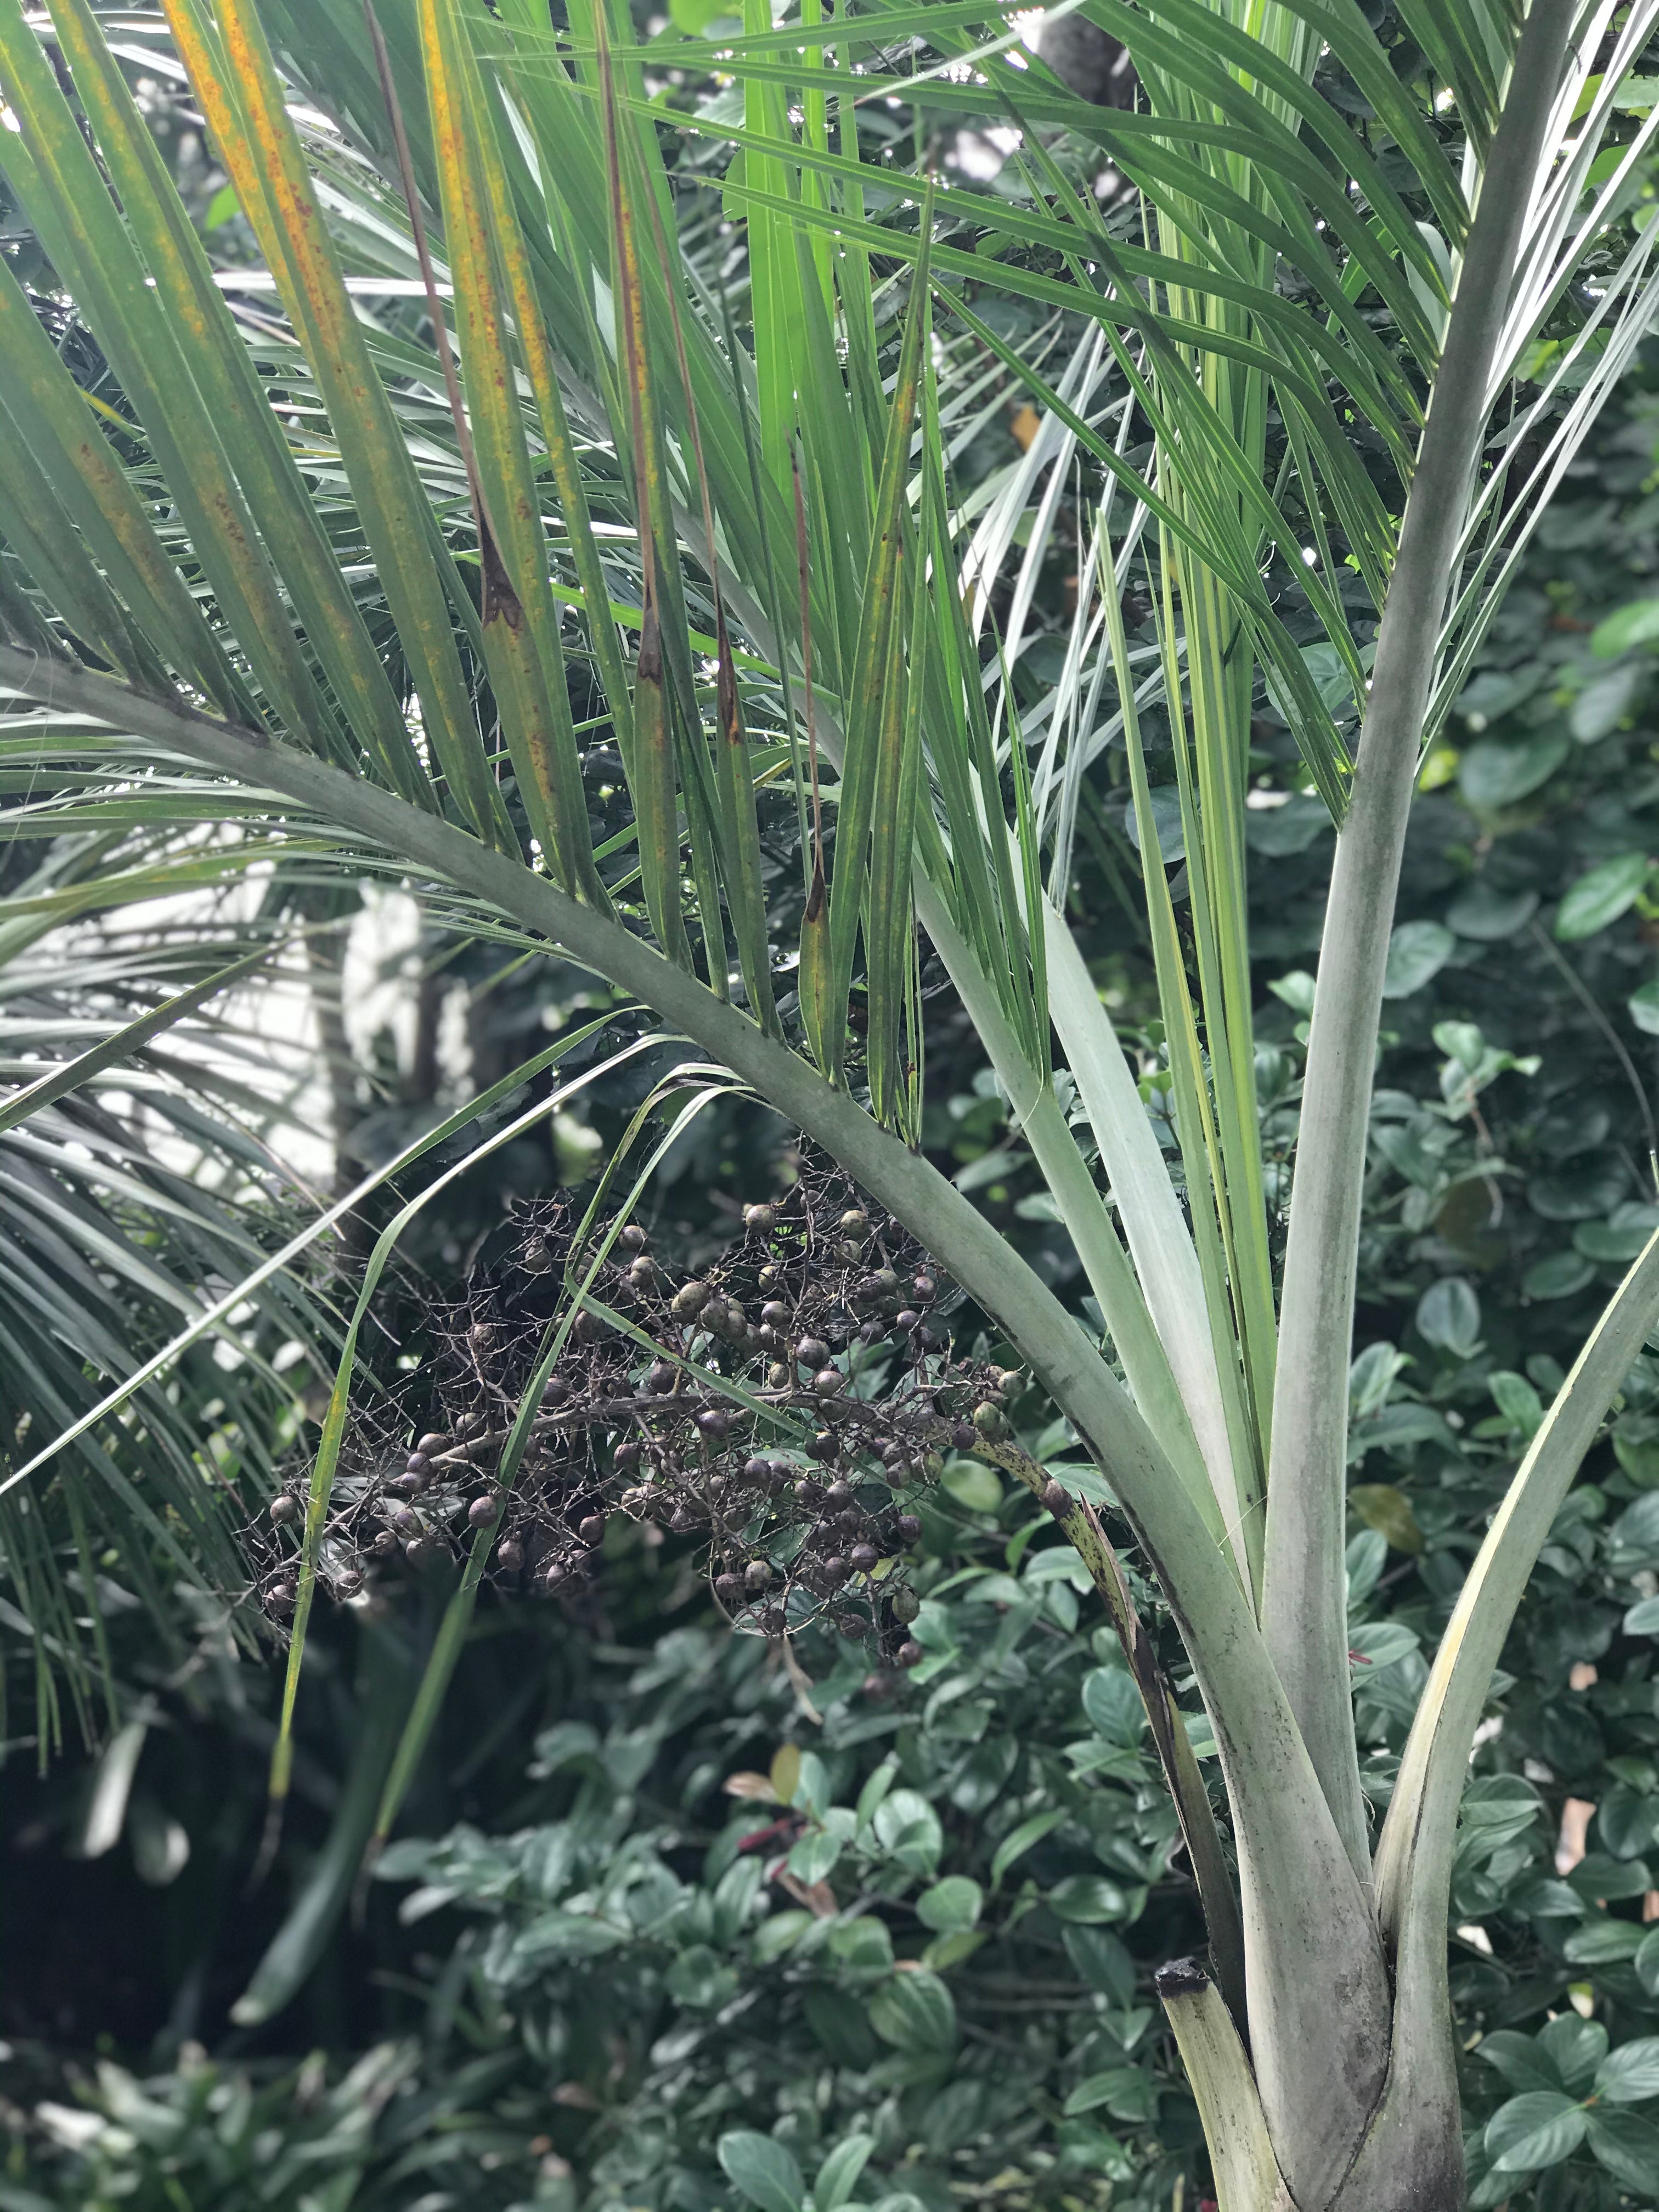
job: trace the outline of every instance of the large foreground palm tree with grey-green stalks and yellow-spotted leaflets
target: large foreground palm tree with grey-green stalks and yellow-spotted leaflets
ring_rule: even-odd
[[[803,0],[783,27],[745,0],[741,35],[717,15],[646,51],[593,0],[564,31],[531,0],[164,11],[281,314],[270,294],[232,314],[131,97],[131,20],[115,38],[88,0],[49,20],[0,0],[0,166],[122,400],[91,407],[0,270],[4,748],[42,794],[11,823],[139,821],[161,776],[310,869],[409,878],[451,927],[557,945],[655,1009],[911,1225],[1097,1460],[1214,1725],[1237,1898],[1183,1732],[1157,1734],[1214,1966],[1164,1995],[1221,2203],[1455,2205],[1458,1796],[1531,1564],[1659,1314],[1659,1245],[1515,1473],[1374,1838],[1343,1595],[1367,1102],[1425,745],[1652,312],[1657,126],[1630,135],[1619,100],[1655,0],[1402,0],[1391,49],[1354,0],[1086,0],[1133,58],[1124,111],[1029,62],[989,0],[830,20]],[[664,69],[710,64],[741,122],[657,97]],[[865,157],[858,100],[922,84],[929,111],[1018,135],[1020,190]],[[661,126],[737,150],[743,336],[710,226],[677,228]],[[1057,133],[1128,179],[1106,212]],[[1000,336],[991,288],[1082,330],[1057,383]],[[431,343],[358,312],[396,292]],[[1037,717],[1015,639],[987,637],[1031,480],[973,531],[951,491],[987,356],[1042,409],[1044,453],[1102,487]],[[1243,920],[1261,686],[1340,825],[1279,1285]],[[1117,739],[1186,1206],[1062,914]],[[626,801],[595,836],[602,743]],[[1170,812],[1190,960],[1155,863]],[[768,905],[796,898],[768,896],[761,847],[779,814],[803,856],[787,960]],[[918,927],[1106,1343],[914,1148]],[[347,1385],[349,1343],[301,1621]],[[1055,1511],[1110,1593],[1095,1515]]]

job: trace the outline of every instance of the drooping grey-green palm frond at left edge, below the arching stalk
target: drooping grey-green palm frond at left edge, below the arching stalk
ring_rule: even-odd
[[[257,1066],[239,1068],[234,1033],[212,1020],[281,936],[226,962],[223,938],[201,931],[157,942],[119,918],[42,927],[40,909],[55,920],[97,858],[80,838],[51,849],[13,876],[0,925],[0,1073],[15,1086],[0,1106],[7,1471],[53,1429],[86,1422],[305,1212],[261,1135],[276,1095]],[[33,1728],[13,1717],[9,1736],[33,1734],[44,1761],[71,1723],[100,1734],[122,1717],[111,1608],[144,1606],[181,1657],[177,1590],[221,1604],[239,1588],[237,1531],[299,1427],[276,1356],[314,1358],[330,1336],[316,1301],[279,1281],[259,1314],[221,1332],[228,1360],[204,1343],[133,1389],[119,1422],[86,1422],[40,1486],[9,1486],[4,1626],[11,1657],[27,1630],[35,1681]],[[257,1648],[252,1624],[230,1624]]]

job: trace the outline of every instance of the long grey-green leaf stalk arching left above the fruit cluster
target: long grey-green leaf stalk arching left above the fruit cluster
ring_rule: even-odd
[[[405,865],[431,869],[560,945],[697,1037],[821,1141],[998,1321],[1064,1407],[1146,1546],[1192,1655],[1239,1840],[1250,2026],[1263,2106],[1292,2188],[1318,2205],[1347,2168],[1383,2086],[1389,1991],[1369,1900],[1347,1865],[1307,1750],[1232,1562],[1206,1528],[1155,1433],[1053,1292],[925,1159],[845,1091],[768,1037],[619,922],[549,878],[288,745],[215,723],[91,672],[42,670],[0,646],[0,686],[51,684],[58,708],[157,739],[168,752],[276,790]],[[1321,1907],[1310,1911],[1310,1900]],[[1332,2017],[1332,1989],[1345,2002]]]

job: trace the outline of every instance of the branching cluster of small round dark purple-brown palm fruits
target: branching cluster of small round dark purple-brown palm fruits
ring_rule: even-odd
[[[734,1626],[781,1637],[825,1619],[911,1666],[905,1557],[945,1449],[1002,1427],[1013,1374],[960,1360],[958,1294],[898,1223],[801,1157],[794,1186],[743,1210],[695,1276],[635,1221],[542,1206],[513,1265],[471,1287],[418,1376],[414,1440],[358,1420],[330,1498],[321,1579],[341,1597],[398,1571],[489,1553],[498,1584],[580,1601],[615,1515],[697,1546]],[[571,1314],[518,1467],[509,1433],[549,1327]],[[511,1460],[511,1453],[507,1453]],[[270,1506],[261,1595],[294,1601],[296,1495]]]

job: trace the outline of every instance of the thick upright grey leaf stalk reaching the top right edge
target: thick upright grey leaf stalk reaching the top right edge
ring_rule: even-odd
[[[1573,0],[1533,0],[1480,184],[1400,529],[1318,958],[1267,1482],[1263,1630],[1354,1867],[1369,1867],[1343,1584],[1347,1365],[1383,967],[1433,655]]]

